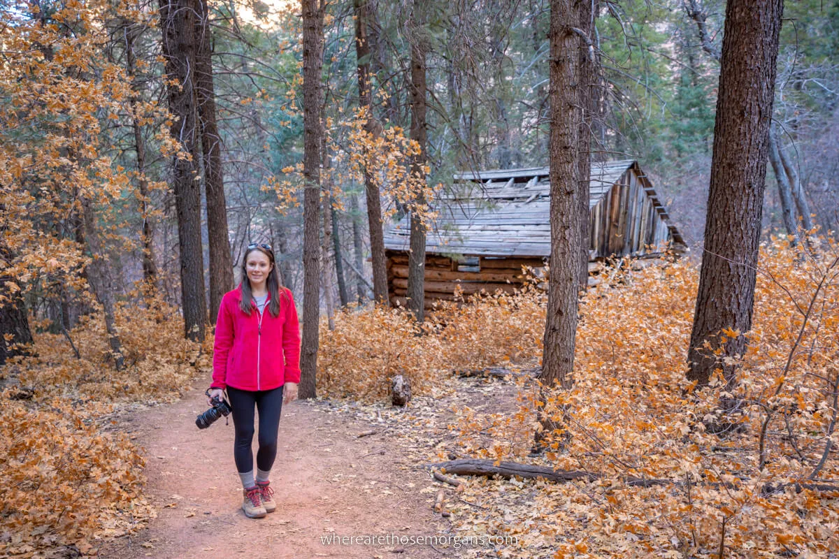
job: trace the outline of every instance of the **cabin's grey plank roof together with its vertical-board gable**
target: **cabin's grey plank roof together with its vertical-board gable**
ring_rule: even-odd
[[[550,256],[549,168],[458,173],[452,192],[434,200],[437,217],[427,235],[428,254]],[[591,163],[591,259],[641,256],[665,242],[684,245],[638,163]],[[388,251],[409,250],[406,217],[388,226]],[[652,249],[657,251],[657,249]]]

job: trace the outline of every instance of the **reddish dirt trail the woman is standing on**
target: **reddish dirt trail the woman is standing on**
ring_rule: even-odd
[[[121,429],[146,449],[147,491],[159,516],[136,536],[102,545],[99,556],[450,556],[427,545],[322,543],[331,535],[421,536],[448,527],[428,505],[429,495],[418,491],[429,485],[429,475],[414,468],[399,443],[384,435],[357,437],[370,424],[322,401],[284,406],[271,479],[278,509],[263,519],[246,518],[232,422],[195,427],[195,416],[206,409],[203,388],[196,383],[181,401],[122,418]]]

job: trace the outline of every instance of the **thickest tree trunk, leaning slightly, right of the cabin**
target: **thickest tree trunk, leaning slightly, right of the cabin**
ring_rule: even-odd
[[[726,6],[705,251],[688,353],[687,378],[701,384],[717,368],[729,384],[736,382],[732,360],[745,353],[752,328],[783,7],[782,0]],[[706,343],[711,351],[703,349]],[[722,354],[712,355],[717,349]]]

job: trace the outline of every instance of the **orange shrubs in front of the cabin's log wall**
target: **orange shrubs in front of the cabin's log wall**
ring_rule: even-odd
[[[318,390],[326,396],[377,400],[393,375],[405,375],[414,394],[429,394],[451,371],[509,364],[539,352],[545,311],[525,292],[475,298],[440,309],[420,329],[399,308],[350,308],[336,313],[335,330],[320,324]]]

